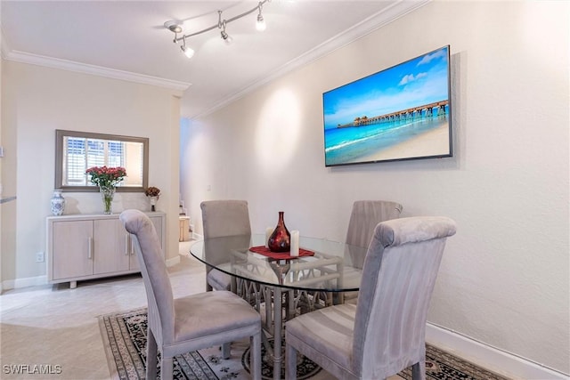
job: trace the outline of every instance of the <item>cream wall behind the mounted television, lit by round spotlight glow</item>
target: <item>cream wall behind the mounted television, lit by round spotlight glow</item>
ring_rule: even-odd
[[[243,198],[252,229],[345,238],[356,199],[447,215],[429,321],[570,373],[567,2],[433,2],[183,132],[183,198]],[[444,44],[453,158],[325,168],[322,93]],[[183,142],[184,142],[183,141]],[[208,190],[209,189],[209,190]]]

